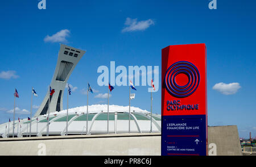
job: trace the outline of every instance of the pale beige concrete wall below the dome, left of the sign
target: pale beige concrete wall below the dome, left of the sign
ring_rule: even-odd
[[[1,139],[2,155],[160,155],[160,133]],[[45,140],[45,139],[48,140]]]

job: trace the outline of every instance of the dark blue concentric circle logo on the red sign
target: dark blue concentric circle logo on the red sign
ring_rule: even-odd
[[[177,83],[177,76],[181,75],[183,75],[183,81],[186,81],[185,85],[182,85],[179,82]],[[168,93],[177,98],[184,98],[193,94],[196,91],[199,82],[199,70],[195,65],[188,61],[175,62],[167,69],[166,76],[164,77],[164,83]]]

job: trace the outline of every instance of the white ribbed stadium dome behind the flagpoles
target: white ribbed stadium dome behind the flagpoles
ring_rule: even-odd
[[[88,106],[88,134],[106,134],[108,124],[108,105],[91,105]],[[86,134],[86,106],[69,108],[68,110],[68,135],[85,135]],[[31,120],[31,136],[47,135],[47,116],[39,115]],[[150,132],[150,112],[138,107],[131,107],[130,114],[130,132],[144,133]],[[65,135],[67,125],[67,110],[52,112],[49,114],[49,135]],[[21,128],[20,128],[21,126]],[[7,127],[7,128],[6,128]],[[13,123],[0,124],[0,137],[12,137]],[[152,114],[152,132],[161,131],[161,116]],[[129,106],[109,105],[109,133],[128,133],[129,132]],[[30,121],[23,119],[15,124],[15,137],[27,137],[30,133]]]

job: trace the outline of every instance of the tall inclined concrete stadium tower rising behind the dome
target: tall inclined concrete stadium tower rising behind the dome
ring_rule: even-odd
[[[59,56],[55,72],[51,81],[51,89],[55,90],[55,93],[50,96],[49,112],[63,110],[63,93],[65,86],[68,82],[68,78],[76,67],[77,63],[84,55],[85,51],[80,49],[72,48],[67,45],[60,45]],[[48,98],[49,90],[44,97],[38,111],[34,116],[44,115],[48,113]]]

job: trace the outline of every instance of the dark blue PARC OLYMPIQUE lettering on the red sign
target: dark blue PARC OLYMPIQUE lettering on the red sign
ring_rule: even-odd
[[[199,105],[181,105],[180,100],[166,101],[168,111],[198,110]]]

